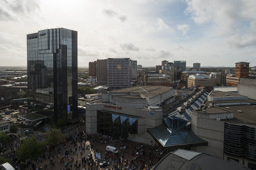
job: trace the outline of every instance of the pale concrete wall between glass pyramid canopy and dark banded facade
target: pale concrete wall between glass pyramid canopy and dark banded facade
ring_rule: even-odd
[[[197,146],[193,150],[207,153],[223,159],[224,122],[198,117],[195,112],[191,117],[192,131],[201,139],[208,142],[208,146]]]

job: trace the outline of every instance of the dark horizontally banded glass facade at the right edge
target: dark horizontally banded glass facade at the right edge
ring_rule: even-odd
[[[227,155],[256,160],[255,127],[228,124],[225,122],[224,152]]]

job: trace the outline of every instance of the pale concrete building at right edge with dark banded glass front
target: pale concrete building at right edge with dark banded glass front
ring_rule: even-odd
[[[191,149],[255,169],[255,103],[241,94],[212,91],[207,103],[191,117],[192,131],[208,145]]]

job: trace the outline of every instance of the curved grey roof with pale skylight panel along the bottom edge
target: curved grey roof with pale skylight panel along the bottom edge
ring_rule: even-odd
[[[212,157],[205,153],[189,150],[176,150],[165,155],[152,170],[179,169],[179,170],[242,170],[248,169],[234,160],[225,160]],[[249,169],[248,169],[249,170]]]

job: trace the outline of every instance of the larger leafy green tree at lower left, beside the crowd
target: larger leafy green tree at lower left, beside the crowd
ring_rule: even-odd
[[[37,159],[46,151],[46,149],[46,143],[38,143],[35,137],[26,139],[17,151],[18,159],[20,161]]]

